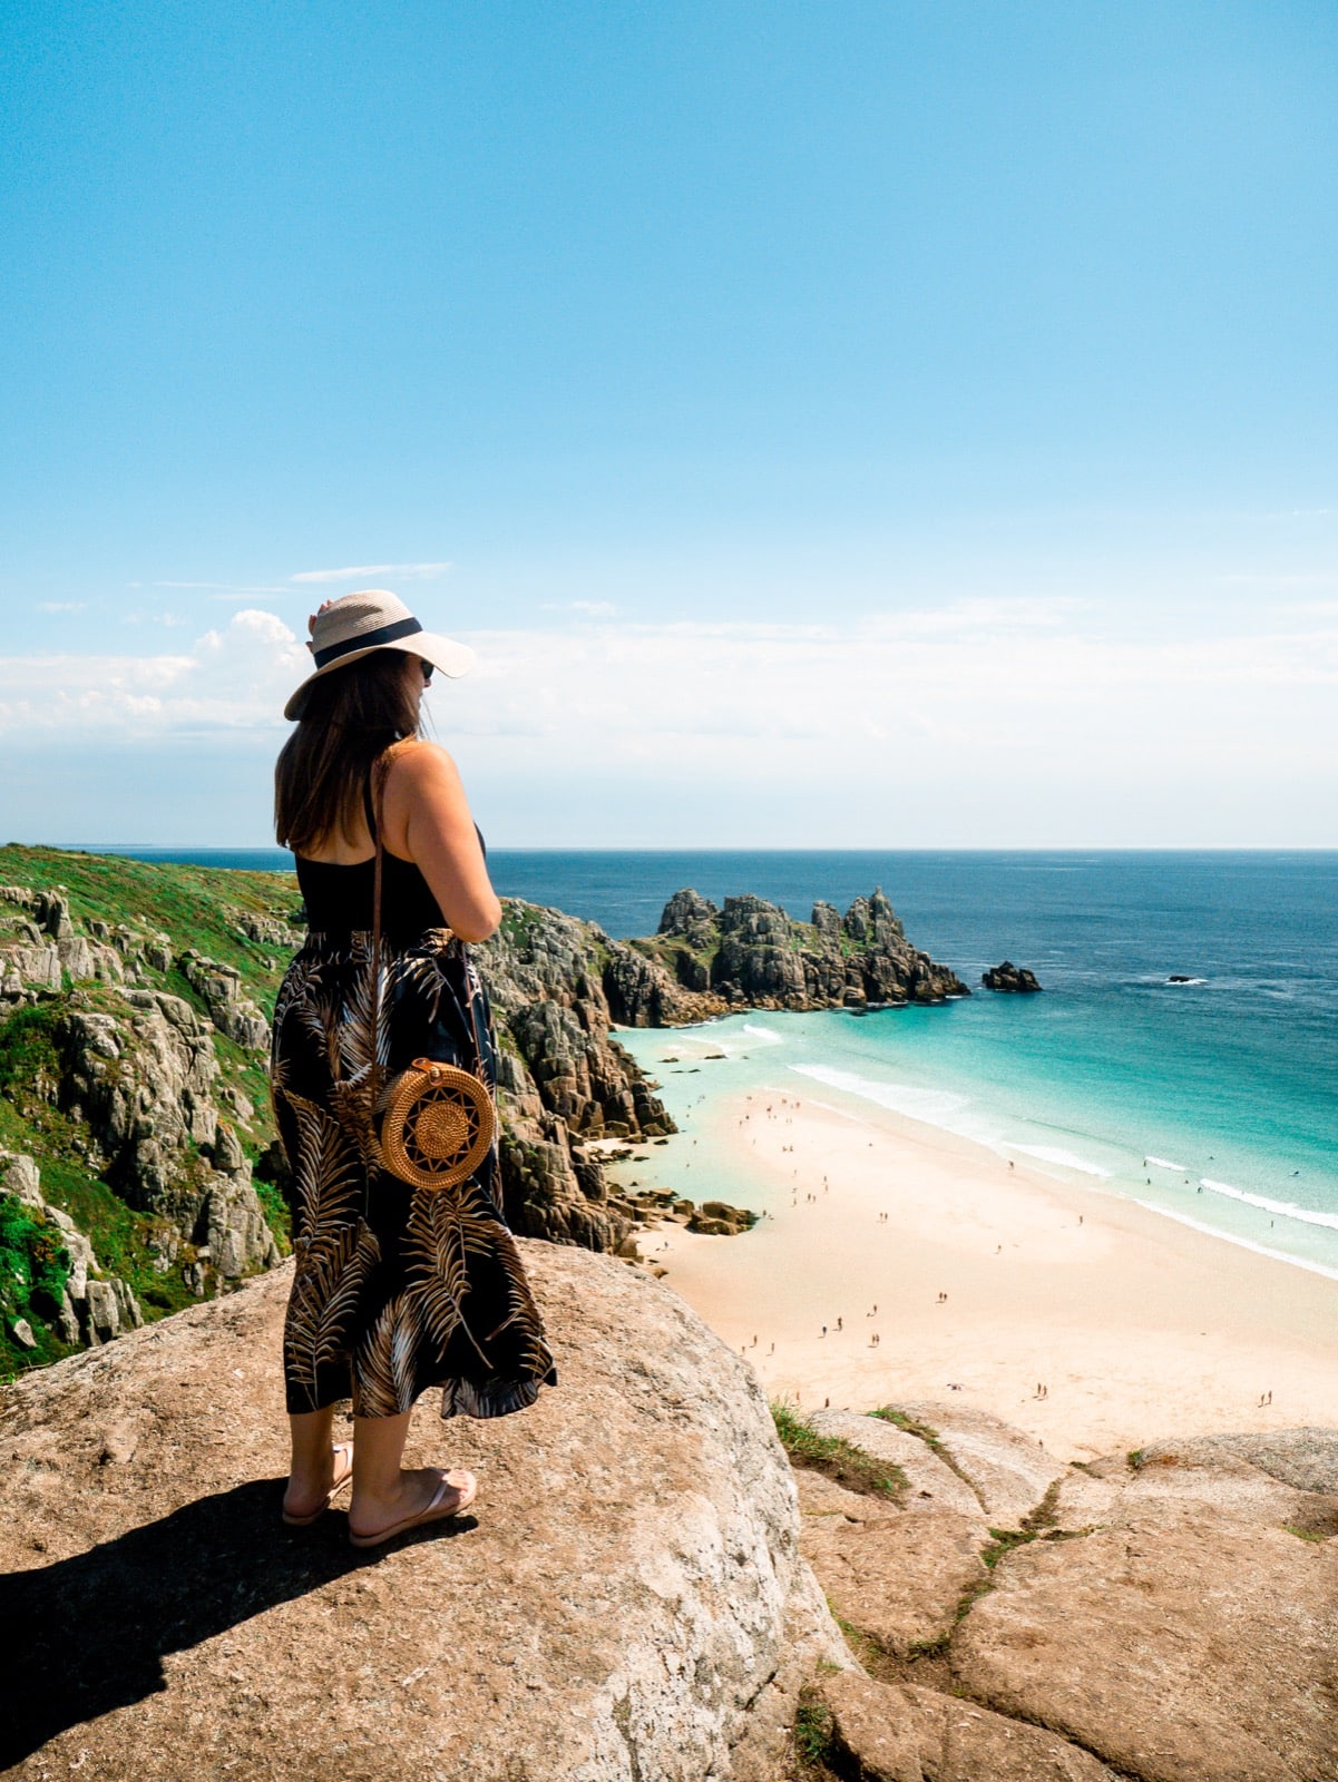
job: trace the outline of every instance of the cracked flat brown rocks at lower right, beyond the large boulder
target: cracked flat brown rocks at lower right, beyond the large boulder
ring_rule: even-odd
[[[980,1411],[893,1415],[978,1497],[983,1565],[948,1609],[962,1550],[942,1541],[930,1563],[921,1540],[907,1600],[887,1529],[900,1520],[910,1545],[912,1518],[944,1511],[914,1492],[869,1508],[827,1481],[802,1488],[804,1550],[877,1680],[820,1691],[837,1762],[898,1778],[1336,1782],[1338,1431],[1060,1467]],[[882,1417],[812,1422],[887,1458]],[[937,1632],[916,1643],[916,1625]]]

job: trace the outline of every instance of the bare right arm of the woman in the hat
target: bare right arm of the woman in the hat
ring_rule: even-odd
[[[385,782],[385,829],[387,846],[413,861],[460,939],[486,941],[502,905],[456,764],[436,743],[396,752]]]

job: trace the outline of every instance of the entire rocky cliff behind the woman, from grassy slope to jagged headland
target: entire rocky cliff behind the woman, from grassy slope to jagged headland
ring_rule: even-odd
[[[12,1369],[280,1260],[265,1051],[303,930],[283,873],[9,846],[0,880],[0,1361]],[[673,1132],[616,1025],[967,994],[880,891],[844,916],[818,903],[811,923],[755,896],[716,909],[679,891],[641,941],[508,898],[474,952],[501,1044],[506,1217],[615,1253],[634,1253],[645,1208],[611,1190],[597,1140]]]

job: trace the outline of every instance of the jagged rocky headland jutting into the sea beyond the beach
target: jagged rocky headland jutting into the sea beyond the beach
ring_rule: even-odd
[[[606,973],[613,1018],[627,1026],[730,1009],[868,1009],[969,994],[907,941],[882,891],[855,898],[844,916],[816,903],[809,923],[759,896],[730,896],[716,909],[697,891],[677,891],[659,932],[627,948],[641,969],[620,959]]]

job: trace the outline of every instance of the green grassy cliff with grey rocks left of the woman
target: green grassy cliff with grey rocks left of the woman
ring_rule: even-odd
[[[11,1367],[280,1260],[262,1003],[287,884],[0,850],[0,1212]],[[203,950],[208,946],[208,952]],[[214,957],[217,955],[217,957]]]

